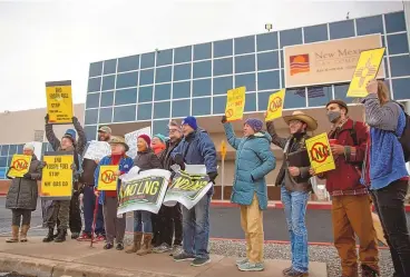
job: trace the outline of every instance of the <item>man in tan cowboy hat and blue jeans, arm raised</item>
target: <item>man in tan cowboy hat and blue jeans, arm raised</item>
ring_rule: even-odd
[[[309,181],[310,164],[305,140],[308,131],[318,129],[318,121],[302,111],[283,117],[291,133],[287,138],[277,136],[274,122],[267,121],[266,129],[272,137],[272,144],[283,149],[284,160],[275,185],[281,186],[281,199],[284,206],[289,235],[292,244],[292,266],[283,270],[284,276],[308,276],[308,229],[305,211],[312,190]],[[294,158],[291,159],[290,157]],[[302,166],[292,166],[297,159]]]

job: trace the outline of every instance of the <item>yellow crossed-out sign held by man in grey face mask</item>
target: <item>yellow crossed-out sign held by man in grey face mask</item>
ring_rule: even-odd
[[[333,170],[335,168],[328,133],[323,132],[313,138],[306,139],[306,149],[311,167],[316,174]]]

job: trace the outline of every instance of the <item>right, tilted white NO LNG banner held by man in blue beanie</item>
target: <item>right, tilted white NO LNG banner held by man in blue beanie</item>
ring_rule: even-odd
[[[165,195],[164,205],[175,206],[176,202],[180,202],[187,209],[192,209],[211,187],[212,182],[206,175],[205,166],[185,165],[185,171],[176,172]]]

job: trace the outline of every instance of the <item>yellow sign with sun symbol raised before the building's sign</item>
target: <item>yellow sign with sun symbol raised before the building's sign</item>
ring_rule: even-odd
[[[368,82],[375,78],[383,60],[385,48],[362,51],[350,82],[348,97],[365,97]]]

